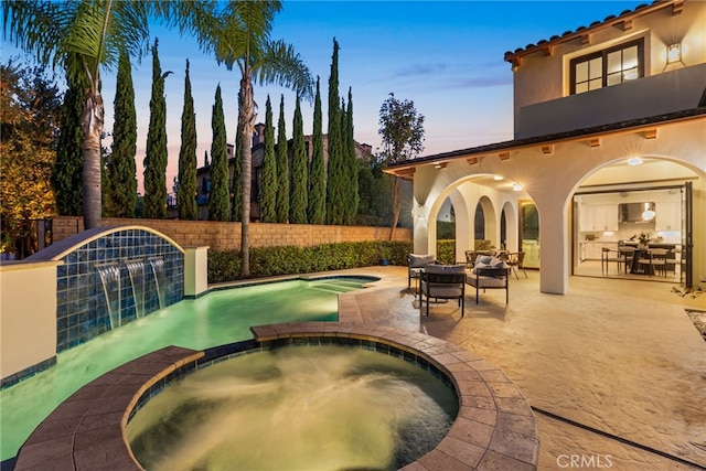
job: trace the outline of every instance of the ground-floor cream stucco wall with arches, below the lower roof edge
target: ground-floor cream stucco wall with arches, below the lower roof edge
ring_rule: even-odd
[[[454,158],[443,169],[432,163],[419,165],[414,174],[414,239],[415,253],[434,254],[436,247],[436,213],[448,195],[458,193],[463,197],[463,214],[457,211],[457,227],[468,225],[468,234],[473,234],[472,213],[482,196],[493,203],[496,221],[503,205],[517,211],[518,196],[512,191],[500,192],[486,186],[472,184],[473,176],[500,174],[507,182],[518,182],[539,212],[541,234],[541,281],[543,292],[566,293],[570,274],[571,247],[571,197],[581,182],[610,163],[629,157],[664,159],[682,168],[671,175],[666,170],[660,174],[663,182],[683,182],[691,175],[694,184],[694,276],[706,279],[706,116],[686,121],[671,122],[657,127],[657,136],[646,139],[644,130],[635,129],[600,137],[600,146],[591,147],[588,139],[557,142],[553,153],[545,154],[541,146],[525,147],[511,151],[507,160],[498,154],[484,156],[478,164],[469,164],[464,157]],[[673,168],[673,165],[668,165]],[[666,169],[666,167],[665,167]],[[514,225],[507,233],[516,234]],[[511,220],[507,218],[510,223]],[[498,224],[498,232],[500,224]],[[488,235],[486,235],[488,237]],[[492,239],[498,242],[499,233]],[[490,237],[489,237],[490,238]],[[516,240],[515,240],[516,244]],[[457,243],[457,251],[463,242]],[[509,242],[509,248],[515,249]],[[458,257],[457,257],[458,258]]]

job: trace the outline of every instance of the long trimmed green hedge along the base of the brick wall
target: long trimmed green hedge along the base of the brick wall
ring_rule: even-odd
[[[346,242],[311,247],[279,246],[250,249],[253,278],[310,274],[378,265],[384,253],[391,265],[407,265],[410,242]],[[240,253],[208,253],[208,282],[235,281],[240,277]]]

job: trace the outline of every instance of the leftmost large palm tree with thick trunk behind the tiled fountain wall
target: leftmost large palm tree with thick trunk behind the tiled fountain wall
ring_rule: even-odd
[[[86,89],[83,106],[84,225],[100,225],[100,133],[104,104],[100,68],[118,64],[121,49],[145,51],[150,2],[18,1],[2,2],[4,34],[38,61],[61,66]]]

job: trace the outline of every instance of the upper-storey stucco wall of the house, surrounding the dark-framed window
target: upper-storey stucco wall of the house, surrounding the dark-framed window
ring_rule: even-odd
[[[549,55],[523,55],[513,73],[515,138],[600,125],[596,119],[618,122],[696,107],[704,92],[699,65],[706,64],[706,2],[686,1],[680,14],[672,12],[665,6],[635,17],[630,29],[603,28],[591,32],[587,43],[577,36],[559,41]],[[575,31],[579,25],[567,26]],[[644,41],[644,78],[569,96],[571,60],[638,39]],[[681,44],[682,60],[667,64],[666,50],[674,43]],[[618,101],[624,106],[616,106]]]

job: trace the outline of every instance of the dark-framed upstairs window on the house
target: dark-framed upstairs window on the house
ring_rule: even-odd
[[[595,90],[643,76],[643,40],[571,60],[571,95]]]

